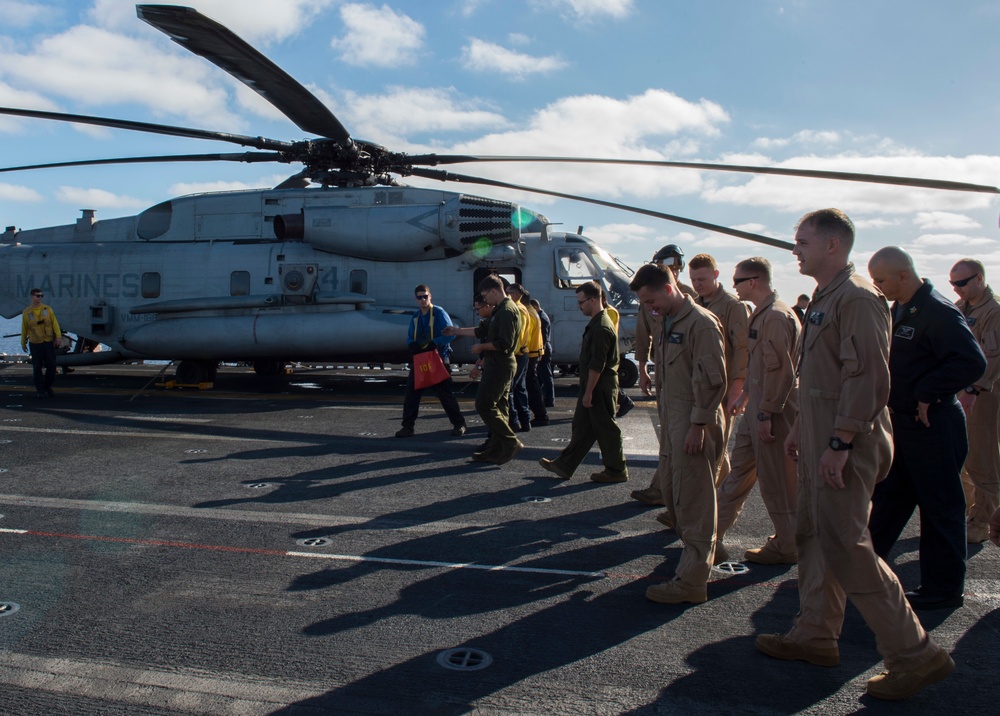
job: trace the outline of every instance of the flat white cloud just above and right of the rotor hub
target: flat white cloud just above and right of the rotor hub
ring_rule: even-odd
[[[417,132],[482,131],[507,125],[503,115],[474,100],[462,100],[451,88],[390,87],[385,94],[347,93],[349,124],[365,128],[362,136],[387,142]]]

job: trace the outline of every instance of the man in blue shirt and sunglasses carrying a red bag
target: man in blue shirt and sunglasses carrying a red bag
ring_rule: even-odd
[[[436,348],[449,372],[451,365],[451,346],[454,336],[446,336],[442,332],[451,327],[451,316],[443,308],[431,303],[431,291],[425,284],[420,284],[413,290],[418,310],[413,312],[413,320],[406,331],[406,345],[411,355]],[[455,399],[454,383],[451,378],[431,386],[431,390],[441,401],[441,407],[448,415],[452,424],[451,434],[455,437],[465,435],[465,418]],[[410,374],[406,377],[406,395],[403,398],[403,427],[396,431],[397,438],[408,438],[413,435],[413,426],[420,412],[420,396],[423,390],[417,390],[413,383],[413,363],[410,363]]]

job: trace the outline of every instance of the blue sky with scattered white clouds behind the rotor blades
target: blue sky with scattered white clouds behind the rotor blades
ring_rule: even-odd
[[[834,169],[1000,184],[995,0],[192,0],[308,87],[355,138],[412,153],[592,156]],[[302,130],[138,20],[122,0],[0,0],[0,106],[281,140]],[[0,165],[242,151],[214,141],[0,116]],[[834,206],[864,271],[909,252],[945,295],[962,257],[1000,275],[997,195],[687,169],[456,165],[452,171],[647,207],[791,240]],[[169,197],[271,187],[288,165],[157,164],[0,173],[2,226],[138,213]],[[668,243],[733,267],[791,254],[614,209],[514,200],[636,267]],[[1000,285],[1000,279],[997,279]]]

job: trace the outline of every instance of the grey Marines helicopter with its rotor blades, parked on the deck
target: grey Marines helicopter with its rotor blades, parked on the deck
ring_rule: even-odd
[[[198,11],[138,5],[138,17],[255,90],[316,139],[281,141],[124,119],[0,107],[0,114],[228,142],[253,151],[119,157],[0,168],[0,172],[158,162],[277,162],[303,169],[273,189],[168,199],[136,216],[0,235],[0,315],[12,318],[33,287],[63,329],[110,347],[59,357],[60,365],[177,361],[181,383],[212,380],[220,361],[276,375],[292,361],[402,362],[413,286],[432,286],[457,323],[475,320],[479,280],[524,284],[553,319],[555,354],[572,363],[587,319],[574,287],[599,281],[622,315],[630,348],[631,269],[577,233],[514,203],[396,177],[457,181],[588,202],[790,249],[788,242],[641,207],[454,174],[438,165],[483,162],[625,164],[784,174],[1000,193],[958,182],[775,167],[586,157],[407,155],[354,139],[312,93],[225,26]],[[466,342],[458,362],[471,360]],[[622,361],[622,385],[637,368]]]

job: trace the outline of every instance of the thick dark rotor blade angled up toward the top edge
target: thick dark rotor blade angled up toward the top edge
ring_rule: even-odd
[[[229,28],[189,7],[136,5],[136,14],[184,49],[238,79],[299,129],[345,145],[351,143],[350,134],[326,105]]]

